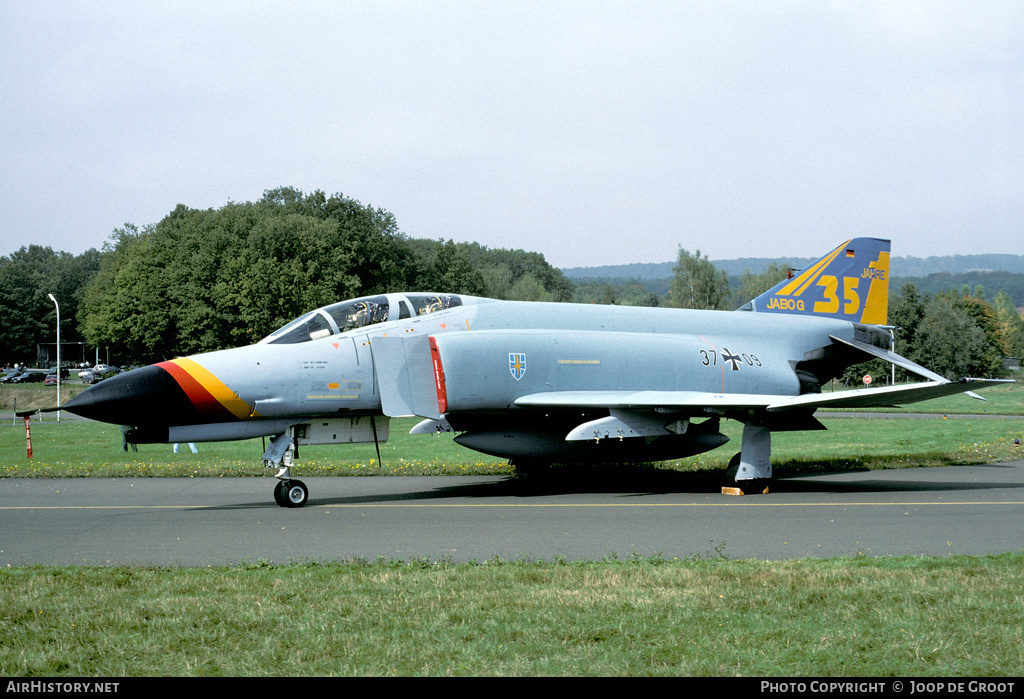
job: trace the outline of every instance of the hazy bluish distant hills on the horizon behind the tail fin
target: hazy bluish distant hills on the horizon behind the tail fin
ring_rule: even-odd
[[[772,262],[803,268],[817,258],[764,258],[743,257],[737,260],[712,260],[716,267],[730,276],[744,271],[759,273]],[[570,279],[667,279],[672,277],[675,262],[652,262],[600,267],[568,267],[562,273]],[[894,277],[919,277],[944,272],[1005,271],[1024,273],[1024,255],[949,255],[946,257],[894,257],[889,265]]]

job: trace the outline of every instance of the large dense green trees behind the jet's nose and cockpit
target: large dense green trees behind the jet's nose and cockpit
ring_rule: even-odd
[[[0,259],[0,360],[36,346],[104,348],[159,361],[265,337],[318,306],[393,291],[571,301],[574,287],[538,253],[418,241],[394,216],[342,194],[292,187],[219,209],[178,206],[159,223],[116,229],[80,256],[31,246]]]

